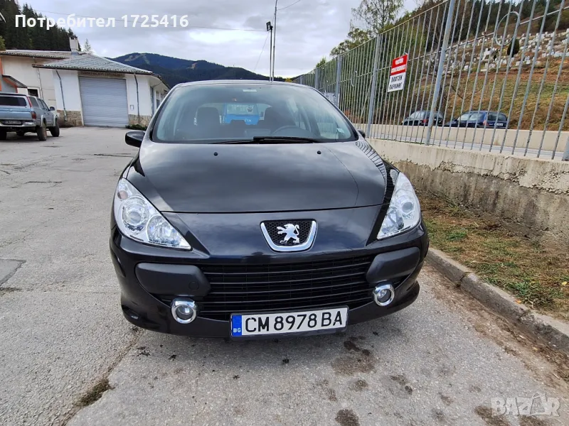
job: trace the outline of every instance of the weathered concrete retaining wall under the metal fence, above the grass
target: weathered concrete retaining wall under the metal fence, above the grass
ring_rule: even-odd
[[[569,162],[370,139],[420,190],[569,246]]]

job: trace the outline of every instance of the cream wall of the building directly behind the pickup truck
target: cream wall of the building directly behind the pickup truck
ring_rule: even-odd
[[[48,107],[55,107],[55,91],[51,70],[40,70],[32,67],[34,63],[43,64],[50,60],[26,58],[21,56],[2,56],[4,75],[11,75],[19,82],[26,84],[28,89],[38,89],[40,97],[46,101]],[[28,93],[26,89],[18,89],[18,92]]]

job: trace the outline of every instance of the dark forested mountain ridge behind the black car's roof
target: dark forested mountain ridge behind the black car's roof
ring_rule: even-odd
[[[241,67],[225,67],[206,60],[173,58],[158,53],[134,52],[110,59],[159,74],[170,87],[202,80],[269,80],[266,75],[256,74]],[[280,77],[275,80],[284,81]]]

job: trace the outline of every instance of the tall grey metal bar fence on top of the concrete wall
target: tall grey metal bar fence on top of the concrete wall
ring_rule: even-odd
[[[295,82],[319,89],[370,138],[569,160],[565,0],[422,9]],[[388,91],[403,55],[405,83]]]

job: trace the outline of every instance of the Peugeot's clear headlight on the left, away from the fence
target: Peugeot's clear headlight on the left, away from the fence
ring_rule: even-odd
[[[124,236],[153,246],[191,250],[184,237],[128,180],[119,180],[112,204],[115,222]]]

